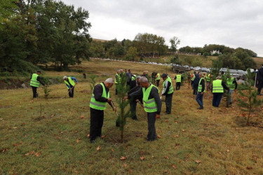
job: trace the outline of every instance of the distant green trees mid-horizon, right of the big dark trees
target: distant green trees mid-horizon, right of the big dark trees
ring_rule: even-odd
[[[175,52],[180,40],[177,37],[170,38],[171,46],[166,45],[166,40],[156,34],[137,34],[133,41],[123,39],[117,41],[92,41],[90,52],[93,57],[124,57],[128,60],[137,59],[137,55],[166,55],[167,52]]]

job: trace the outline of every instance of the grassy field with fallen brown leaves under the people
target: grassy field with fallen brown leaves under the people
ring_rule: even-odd
[[[168,72],[166,66],[93,59],[76,69],[95,73],[97,83],[113,77],[117,69]],[[147,142],[147,116],[137,106],[139,121],[128,119],[120,144],[116,116],[107,106],[102,128],[103,139],[90,144],[89,102],[92,94],[88,79],[81,73],[46,72],[47,76],[76,76],[79,83],[74,99],[62,98],[64,84],[50,85],[50,97],[32,100],[32,90],[0,90],[0,173],[1,174],[263,174],[262,109],[245,126],[245,113],[234,104],[227,109],[212,106],[206,92],[202,111],[183,85],[173,94],[171,115],[156,120],[157,141]],[[162,83],[162,80],[161,80]],[[115,87],[110,89],[116,101]],[[162,88],[160,88],[162,90]],[[121,160],[124,157],[125,160]]]

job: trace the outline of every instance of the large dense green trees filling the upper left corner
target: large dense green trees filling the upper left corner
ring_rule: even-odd
[[[53,63],[60,69],[90,56],[89,13],[55,0],[0,3],[0,71],[32,71]]]

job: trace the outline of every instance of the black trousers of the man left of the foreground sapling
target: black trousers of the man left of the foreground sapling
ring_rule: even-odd
[[[90,141],[102,136],[104,111],[90,108]]]

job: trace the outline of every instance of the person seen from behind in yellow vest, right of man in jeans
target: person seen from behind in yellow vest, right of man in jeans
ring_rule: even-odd
[[[218,107],[220,105],[224,89],[229,90],[229,87],[220,80],[220,76],[217,76],[216,80],[213,80],[212,83],[212,92],[213,92],[213,106]]]

